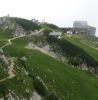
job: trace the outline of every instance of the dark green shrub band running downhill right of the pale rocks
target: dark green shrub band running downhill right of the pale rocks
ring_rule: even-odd
[[[57,39],[53,36],[49,36],[47,40],[56,51],[63,53],[63,55],[67,57],[68,63],[71,63],[76,67],[82,67],[83,64],[83,66],[88,66],[88,69],[89,67],[93,67],[95,68],[94,71],[96,72],[98,62],[82,48],[78,47],[77,45],[74,45],[68,40]]]

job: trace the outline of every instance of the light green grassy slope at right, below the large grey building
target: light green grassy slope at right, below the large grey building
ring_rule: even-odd
[[[78,47],[85,50],[89,55],[98,60],[98,50],[97,50],[97,41],[95,37],[83,36],[83,35],[73,35],[71,37],[65,36],[66,40],[72,44],[77,45]]]

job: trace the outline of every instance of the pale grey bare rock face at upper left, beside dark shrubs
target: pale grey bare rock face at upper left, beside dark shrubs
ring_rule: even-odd
[[[4,30],[11,30],[14,37],[26,34],[26,31],[16,23],[14,18],[10,16],[4,16],[0,18],[0,27]]]

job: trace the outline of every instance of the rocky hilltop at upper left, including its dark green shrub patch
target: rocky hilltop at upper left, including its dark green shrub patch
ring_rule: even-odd
[[[0,28],[2,28],[3,30],[9,29],[13,37],[23,36],[26,34],[33,34],[35,32],[38,32],[39,30],[38,26],[30,22],[29,20],[10,17],[9,15],[0,17]],[[43,32],[40,32],[40,34],[43,34]]]

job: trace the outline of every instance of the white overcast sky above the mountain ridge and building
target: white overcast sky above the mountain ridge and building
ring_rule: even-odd
[[[58,26],[70,27],[75,20],[88,21],[97,28],[98,0],[0,0],[0,17],[44,19]]]

